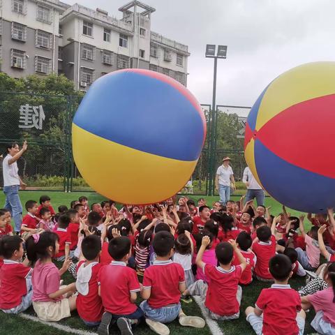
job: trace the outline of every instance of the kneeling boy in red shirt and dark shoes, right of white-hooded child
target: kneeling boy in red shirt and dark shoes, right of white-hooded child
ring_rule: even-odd
[[[125,236],[111,239],[108,252],[113,260],[98,274],[98,294],[105,307],[98,334],[110,334],[110,325],[116,322],[122,335],[131,335],[131,328],[143,318],[143,311],[135,304],[140,283],[135,270],[127,267],[131,241]]]

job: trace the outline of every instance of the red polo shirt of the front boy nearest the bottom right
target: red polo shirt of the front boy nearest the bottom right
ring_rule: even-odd
[[[301,311],[301,299],[290,285],[273,284],[263,288],[256,304],[263,311],[264,335],[298,335],[297,312]]]

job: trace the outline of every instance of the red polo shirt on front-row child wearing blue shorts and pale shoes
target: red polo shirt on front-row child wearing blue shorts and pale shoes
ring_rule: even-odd
[[[185,282],[185,272],[180,264],[172,260],[155,260],[145,269],[143,288],[150,288],[148,304],[151,308],[161,308],[178,304],[180,300],[179,283]]]

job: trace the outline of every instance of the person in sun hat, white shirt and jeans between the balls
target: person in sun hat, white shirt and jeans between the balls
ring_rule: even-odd
[[[230,200],[230,186],[233,189],[235,188],[234,172],[232,172],[232,167],[229,163],[229,157],[223,158],[222,165],[216,171],[215,187],[220,195],[221,204],[225,204]]]

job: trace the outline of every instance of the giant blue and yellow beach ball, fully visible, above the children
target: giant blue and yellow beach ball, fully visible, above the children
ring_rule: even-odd
[[[119,70],[96,80],[80,103],[73,156],[96,192],[150,204],[184,187],[205,136],[202,108],[186,87],[161,73]]]

